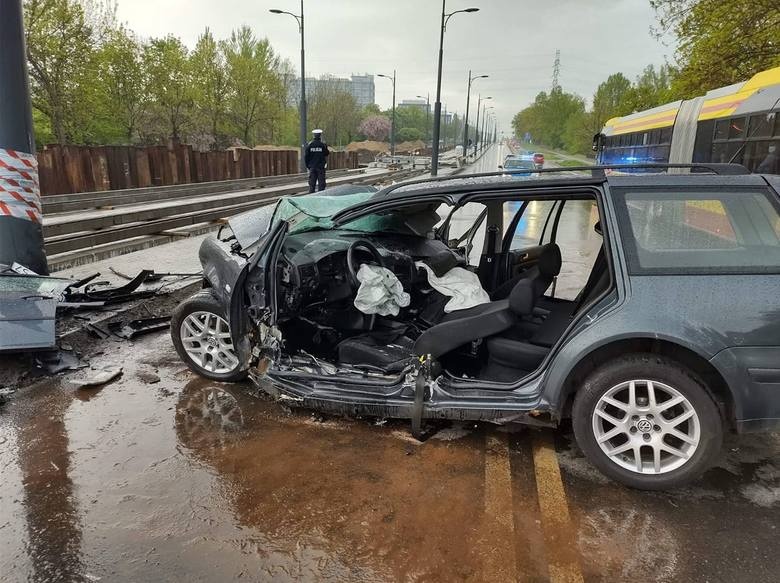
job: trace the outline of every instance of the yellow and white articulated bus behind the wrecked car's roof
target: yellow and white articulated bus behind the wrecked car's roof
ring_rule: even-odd
[[[706,95],[607,121],[600,164],[735,162],[780,174],[780,67]]]

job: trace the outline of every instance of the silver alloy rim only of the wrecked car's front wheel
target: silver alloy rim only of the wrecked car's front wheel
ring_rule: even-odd
[[[230,327],[221,316],[193,312],[182,321],[179,337],[187,356],[200,368],[227,374],[238,367]]]

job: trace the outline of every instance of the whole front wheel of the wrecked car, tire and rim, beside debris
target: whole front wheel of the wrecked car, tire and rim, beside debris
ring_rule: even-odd
[[[209,290],[176,307],[171,339],[179,357],[198,375],[223,382],[246,378],[233,350],[225,310]]]

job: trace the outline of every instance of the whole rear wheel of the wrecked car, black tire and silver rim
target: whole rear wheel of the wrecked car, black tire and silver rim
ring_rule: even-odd
[[[575,395],[572,422],[594,466],[641,490],[690,483],[714,463],[723,442],[721,414],[704,383],[652,354],[627,355],[593,371]]]

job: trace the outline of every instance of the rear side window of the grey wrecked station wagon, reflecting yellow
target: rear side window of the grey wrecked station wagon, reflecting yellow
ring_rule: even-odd
[[[780,212],[766,191],[617,198],[632,273],[780,273]]]

